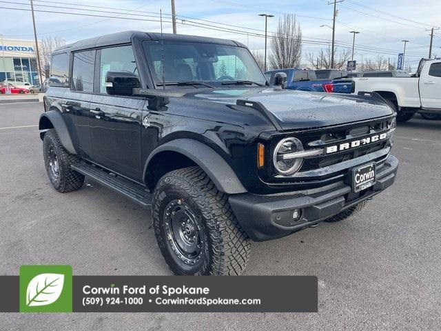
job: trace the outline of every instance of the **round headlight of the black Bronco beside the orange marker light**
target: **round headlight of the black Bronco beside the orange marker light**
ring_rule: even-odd
[[[277,172],[287,176],[299,170],[303,159],[287,157],[287,154],[301,152],[302,150],[303,146],[300,140],[296,138],[282,139],[274,148],[273,154],[274,168],[276,168]]]

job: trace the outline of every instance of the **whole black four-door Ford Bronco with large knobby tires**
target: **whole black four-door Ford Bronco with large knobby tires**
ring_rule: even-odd
[[[89,177],[151,209],[175,274],[240,274],[252,240],[345,219],[396,177],[380,97],[269,86],[236,41],[109,34],[55,51],[51,78],[52,185]]]

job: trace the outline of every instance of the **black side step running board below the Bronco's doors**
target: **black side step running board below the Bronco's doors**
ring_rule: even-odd
[[[73,164],[71,167],[76,172],[84,174],[90,179],[107,186],[107,188],[112,188],[112,190],[116,190],[116,192],[125,195],[125,197],[136,201],[141,204],[143,208],[148,210],[152,209],[152,193],[142,185],[136,184],[121,176],[106,172],[101,168],[85,162]]]

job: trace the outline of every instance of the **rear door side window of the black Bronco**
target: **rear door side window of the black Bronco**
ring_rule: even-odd
[[[74,53],[71,90],[93,92],[95,50]]]

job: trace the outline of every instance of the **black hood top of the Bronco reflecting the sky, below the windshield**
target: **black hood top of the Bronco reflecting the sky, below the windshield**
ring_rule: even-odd
[[[226,104],[236,104],[238,100],[260,103],[283,130],[335,126],[392,114],[381,99],[350,94],[238,88],[204,90],[191,97]]]

